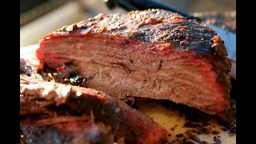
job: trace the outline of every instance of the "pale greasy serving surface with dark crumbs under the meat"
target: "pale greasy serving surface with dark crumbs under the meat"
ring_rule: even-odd
[[[34,50],[37,48],[38,45],[21,47],[21,58],[33,58]],[[232,100],[232,103],[234,103],[235,108],[235,101]],[[224,126],[218,125],[214,120],[209,121],[208,126],[201,126],[201,129],[207,130],[206,133],[208,134],[196,134],[191,133],[191,131],[198,130],[198,127],[184,127],[184,124],[186,123],[186,116],[175,108],[167,108],[166,106],[162,105],[162,102],[138,102],[136,105],[138,106],[138,110],[141,110],[142,113],[146,114],[148,117],[153,118],[155,122],[158,122],[169,131],[170,144],[182,143],[186,141],[191,141],[194,143],[207,142],[210,144],[236,143],[236,134],[230,134],[229,130],[226,130]],[[202,125],[202,122],[197,122],[194,124]],[[190,134],[196,134],[193,138],[194,140],[188,138],[188,131],[190,131]]]

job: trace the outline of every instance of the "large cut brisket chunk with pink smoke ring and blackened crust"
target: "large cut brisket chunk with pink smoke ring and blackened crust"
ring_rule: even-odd
[[[166,10],[98,14],[40,42],[41,66],[83,86],[128,96],[169,99],[208,114],[228,109],[230,60],[211,28]]]

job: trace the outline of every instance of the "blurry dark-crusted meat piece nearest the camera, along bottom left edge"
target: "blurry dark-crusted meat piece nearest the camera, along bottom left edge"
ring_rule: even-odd
[[[26,144],[113,144],[109,126],[94,122],[61,122],[50,126],[21,125],[21,143]]]

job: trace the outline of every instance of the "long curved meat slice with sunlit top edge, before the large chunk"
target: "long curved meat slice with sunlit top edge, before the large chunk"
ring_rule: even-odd
[[[20,94],[30,99],[43,98],[41,107],[54,102],[56,106],[70,106],[80,114],[90,114],[92,110],[98,121],[111,126],[116,138],[125,138],[126,142],[154,144],[168,140],[167,130],[157,122],[101,91],[22,76]]]

